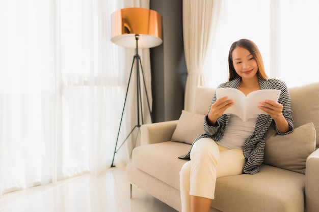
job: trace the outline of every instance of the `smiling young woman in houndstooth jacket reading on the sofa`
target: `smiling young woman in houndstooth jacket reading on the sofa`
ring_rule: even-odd
[[[215,93],[204,119],[205,134],[195,138],[190,151],[179,157],[190,160],[180,171],[182,212],[208,212],[216,178],[257,173],[263,161],[265,133],[272,123],[280,135],[294,130],[287,86],[281,80],[268,79],[252,41],[241,39],[231,45],[228,66],[229,81],[218,88],[237,88],[246,96],[254,90],[279,89],[279,100],[260,102],[258,107],[268,114],[243,122],[235,115],[223,114],[234,103],[227,97],[216,99]]]

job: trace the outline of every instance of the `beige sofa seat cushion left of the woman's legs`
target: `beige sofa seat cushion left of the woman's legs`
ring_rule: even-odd
[[[179,190],[179,171],[186,160],[178,159],[190,144],[167,141],[138,146],[133,149],[132,163],[142,171]]]

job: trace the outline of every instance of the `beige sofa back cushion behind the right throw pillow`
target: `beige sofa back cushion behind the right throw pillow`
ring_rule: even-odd
[[[295,128],[312,122],[319,132],[319,82],[289,88]],[[305,109],[307,108],[307,109]],[[316,148],[319,136],[316,136]]]

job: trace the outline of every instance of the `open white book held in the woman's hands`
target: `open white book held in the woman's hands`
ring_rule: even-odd
[[[246,122],[246,120],[254,114],[267,114],[258,108],[258,105],[260,105],[259,102],[264,102],[265,100],[277,102],[279,94],[280,90],[276,89],[255,90],[247,96],[236,88],[226,87],[216,89],[217,99],[228,97],[228,99],[234,101],[234,105],[227,108],[224,114],[235,114],[242,118],[244,122]]]

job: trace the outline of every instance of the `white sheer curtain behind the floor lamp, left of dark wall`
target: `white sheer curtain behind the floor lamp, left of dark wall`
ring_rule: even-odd
[[[135,54],[111,42],[111,14],[125,7],[149,0],[0,2],[0,196],[110,167]],[[151,101],[148,49],[140,55]],[[135,86],[120,140],[136,122]]]

